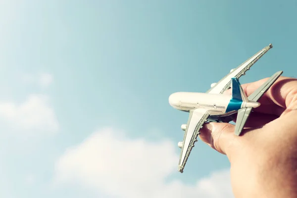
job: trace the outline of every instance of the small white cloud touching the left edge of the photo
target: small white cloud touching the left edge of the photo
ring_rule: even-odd
[[[58,121],[44,95],[29,95],[20,104],[0,102],[0,118],[17,130],[56,132]]]

